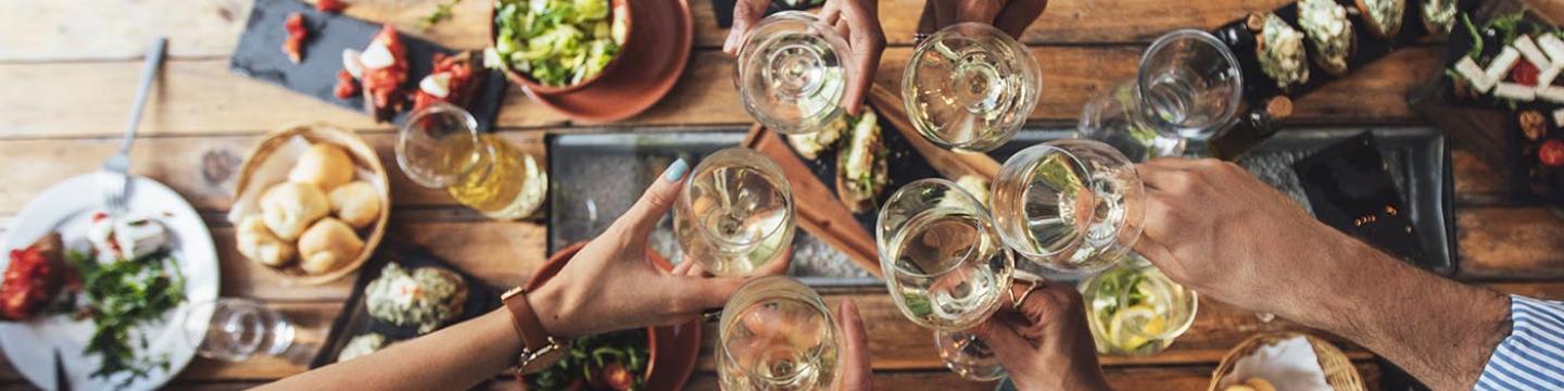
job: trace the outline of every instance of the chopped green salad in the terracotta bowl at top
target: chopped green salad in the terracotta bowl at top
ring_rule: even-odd
[[[602,72],[619,53],[624,23],[608,0],[499,0],[491,67],[569,86]]]

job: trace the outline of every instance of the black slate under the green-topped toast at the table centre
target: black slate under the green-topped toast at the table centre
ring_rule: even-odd
[[[885,200],[890,199],[891,192],[896,192],[896,189],[901,189],[902,185],[915,180],[940,177],[940,174],[929,166],[929,161],[924,160],[923,155],[918,155],[912,144],[907,142],[907,138],[902,136],[901,131],[896,131],[888,120],[885,120],[884,114],[879,111],[874,114],[881,125],[881,142],[885,145],[885,150],[890,152],[885,163],[885,166],[890,167],[890,181],[885,183],[885,191],[874,199],[876,208],[852,214],[852,217],[859,221],[859,225],[863,225],[863,230],[868,230],[870,233],[874,233],[874,224],[879,221],[879,205],[885,205]],[[815,178],[820,178],[820,183],[824,183],[826,188],[830,189],[830,194],[837,194],[837,156],[841,153],[841,149],[846,145],[849,136],[851,135],[848,135],[848,131],[843,131],[837,145],[820,152],[820,156],[815,160],[798,155],[798,150],[793,149],[793,142],[787,142],[787,147],[788,150],[793,150],[793,155],[796,155],[799,161],[804,161],[804,166],[815,174]],[[782,138],[787,139],[785,135]],[[837,194],[837,200],[840,200],[841,194]]]

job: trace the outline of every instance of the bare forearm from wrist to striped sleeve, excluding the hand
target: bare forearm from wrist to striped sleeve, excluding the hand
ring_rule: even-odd
[[[1334,266],[1312,305],[1284,316],[1358,343],[1434,389],[1472,389],[1509,335],[1509,299],[1342,242],[1334,260],[1320,260]]]

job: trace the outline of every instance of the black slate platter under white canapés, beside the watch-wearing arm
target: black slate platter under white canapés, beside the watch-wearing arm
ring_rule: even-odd
[[[483,285],[482,280],[474,278],[435,255],[430,255],[424,249],[385,241],[380,244],[375,256],[364,263],[363,269],[358,271],[358,280],[353,282],[353,292],[347,296],[347,302],[343,303],[343,311],[336,314],[336,321],[332,321],[332,332],[325,336],[321,352],[314,355],[314,360],[310,360],[311,369],[336,363],[336,355],[343,352],[343,346],[353,339],[353,336],[380,333],[391,343],[418,338],[418,327],[397,327],[374,319],[369,316],[369,308],[364,305],[364,286],[380,277],[380,269],[385,267],[386,263],[397,263],[408,271],[433,266],[461,275],[461,280],[468,285],[468,302],[461,316],[446,324],[446,327],[477,317],[499,308],[500,305],[499,292],[496,292],[494,288]]]

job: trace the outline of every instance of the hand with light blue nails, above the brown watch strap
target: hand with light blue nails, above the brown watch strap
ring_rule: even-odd
[[[688,322],[707,308],[723,307],[744,283],[702,277],[693,261],[666,272],[646,258],[646,236],[679,199],[688,170],[688,163],[674,161],[608,230],[527,296],[549,335],[572,338]]]

